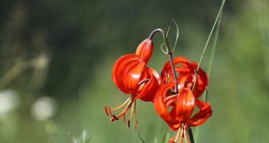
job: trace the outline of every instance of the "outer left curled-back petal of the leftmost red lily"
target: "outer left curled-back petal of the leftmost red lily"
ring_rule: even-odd
[[[138,60],[138,55],[135,54],[127,54],[122,57],[120,57],[114,64],[112,68],[112,79],[116,86],[120,88],[121,90],[124,89],[124,83],[122,80],[122,69],[125,67],[125,65],[134,60]],[[122,90],[123,91],[123,90]],[[125,91],[124,91],[125,92]]]

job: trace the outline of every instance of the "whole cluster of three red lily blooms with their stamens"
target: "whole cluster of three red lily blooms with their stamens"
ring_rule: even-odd
[[[135,54],[127,54],[120,57],[113,66],[112,77],[116,86],[130,97],[120,106],[110,108],[105,106],[111,121],[130,114],[128,126],[134,112],[135,125],[135,100],[153,102],[156,113],[168,124],[172,131],[178,130],[176,136],[169,143],[175,143],[183,138],[189,142],[187,130],[190,127],[199,126],[206,122],[212,115],[211,106],[208,102],[198,99],[208,85],[208,77],[205,71],[197,69],[195,62],[189,62],[183,57],[175,57],[167,61],[159,74],[147,63],[152,55],[152,34],[142,41],[136,48]],[[171,52],[167,52],[172,57]],[[169,57],[169,58],[170,58]],[[178,75],[178,77],[176,77]],[[195,106],[198,111],[194,112]],[[122,109],[118,115],[113,110]]]

